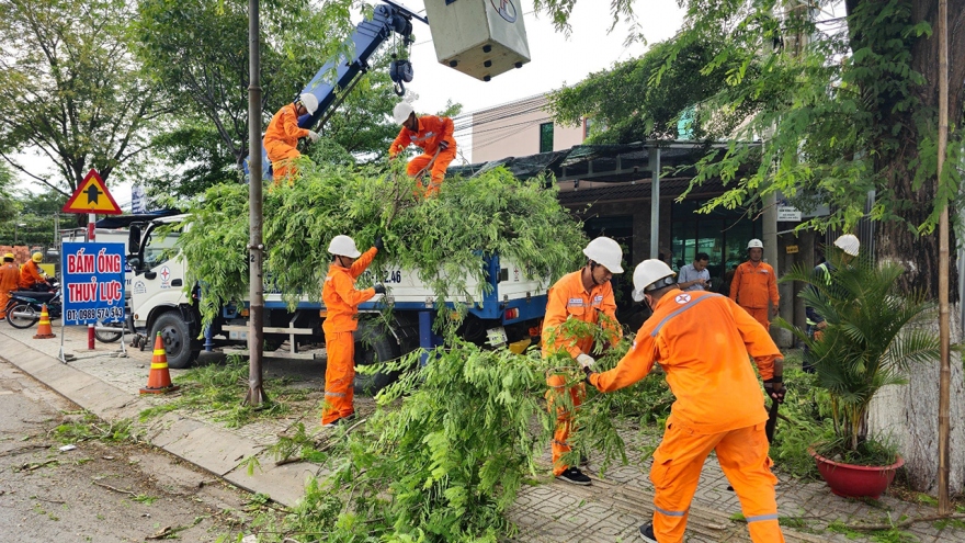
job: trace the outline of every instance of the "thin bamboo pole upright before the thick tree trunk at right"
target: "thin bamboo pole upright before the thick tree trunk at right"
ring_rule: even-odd
[[[949,147],[949,2],[939,0],[939,161],[935,183],[941,186],[945,151]],[[961,304],[962,301],[960,299]],[[949,330],[949,204],[939,217],[939,338],[941,341],[941,377],[939,381],[939,514],[950,514],[949,477],[951,473],[951,383],[952,365]]]

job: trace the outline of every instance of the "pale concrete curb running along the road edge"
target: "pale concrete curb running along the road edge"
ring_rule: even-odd
[[[2,358],[60,396],[107,422],[136,419],[144,409],[139,397],[64,364],[29,343],[0,333]],[[146,377],[145,377],[146,378]],[[147,427],[147,441],[252,494],[266,494],[292,508],[304,496],[305,483],[318,466],[297,462],[275,466],[263,462],[248,475],[239,462],[260,454],[264,446],[209,422],[169,412]]]

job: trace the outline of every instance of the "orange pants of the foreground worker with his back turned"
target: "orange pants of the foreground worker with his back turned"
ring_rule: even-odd
[[[764,423],[722,433],[702,434],[671,415],[663,441],[654,452],[654,534],[660,543],[680,543],[686,529],[690,502],[711,451],[740,499],[750,539],[754,543],[782,543],[777,502],[768,457]]]

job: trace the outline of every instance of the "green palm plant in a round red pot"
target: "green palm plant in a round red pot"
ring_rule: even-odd
[[[904,461],[894,448],[867,434],[867,414],[886,385],[906,383],[910,366],[939,358],[935,306],[923,292],[904,293],[897,263],[852,260],[832,248],[830,273],[795,267],[782,281],[806,283],[799,296],[827,326],[809,337],[779,319],[805,346],[804,364],[827,391],[835,439],[816,443],[811,455],[831,490],[877,498]]]

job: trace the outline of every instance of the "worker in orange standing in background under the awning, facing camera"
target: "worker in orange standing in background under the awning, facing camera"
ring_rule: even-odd
[[[747,244],[747,254],[750,260],[734,271],[730,299],[767,329],[771,326],[771,318],[777,315],[777,302],[781,299],[777,295],[777,276],[770,264],[761,261],[764,244],[760,239],[751,239]]]

